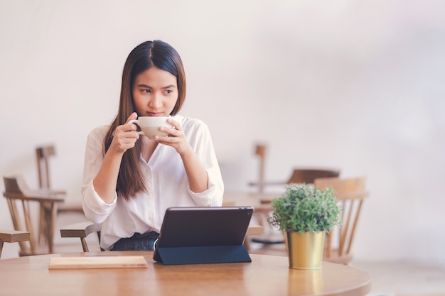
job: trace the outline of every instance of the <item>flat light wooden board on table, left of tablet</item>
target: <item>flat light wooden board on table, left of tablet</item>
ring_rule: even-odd
[[[144,256],[82,256],[50,258],[49,269],[147,268]]]

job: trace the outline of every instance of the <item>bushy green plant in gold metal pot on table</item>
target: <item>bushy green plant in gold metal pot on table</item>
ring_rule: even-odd
[[[268,222],[286,234],[289,267],[321,268],[325,236],[341,225],[342,207],[334,190],[291,184],[282,196],[272,199],[271,206]]]

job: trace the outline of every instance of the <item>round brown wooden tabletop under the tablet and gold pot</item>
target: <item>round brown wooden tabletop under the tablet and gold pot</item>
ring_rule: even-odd
[[[51,257],[144,256],[148,268],[48,270]],[[65,253],[0,260],[0,295],[366,295],[368,273],[323,263],[289,269],[283,256],[251,254],[252,263],[161,265],[152,251]]]

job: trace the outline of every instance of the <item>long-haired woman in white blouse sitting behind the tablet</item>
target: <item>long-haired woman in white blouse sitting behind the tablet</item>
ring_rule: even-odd
[[[153,250],[168,207],[220,206],[223,180],[208,127],[178,114],[181,57],[160,40],[136,46],[122,73],[119,110],[87,138],[82,207],[102,223],[104,250]],[[171,116],[168,136],[141,136],[137,116]]]

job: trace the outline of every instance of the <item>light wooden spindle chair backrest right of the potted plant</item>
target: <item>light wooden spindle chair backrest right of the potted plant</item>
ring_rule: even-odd
[[[350,253],[357,229],[363,200],[368,197],[365,191],[366,177],[319,178],[313,185],[320,188],[332,187],[336,198],[343,205],[343,224],[340,229],[333,229],[327,236],[324,259],[335,263],[347,264],[352,260]],[[338,241],[334,241],[338,239]]]

